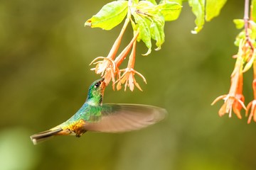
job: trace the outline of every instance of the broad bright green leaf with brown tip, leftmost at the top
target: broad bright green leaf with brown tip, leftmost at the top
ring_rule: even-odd
[[[100,11],[85,22],[85,26],[111,30],[127,15],[128,1],[112,1],[103,6]]]

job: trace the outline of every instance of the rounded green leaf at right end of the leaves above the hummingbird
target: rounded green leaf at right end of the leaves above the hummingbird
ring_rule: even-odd
[[[181,13],[182,6],[176,2],[162,1],[157,6],[159,11],[164,16],[165,21],[174,21],[178,18]]]

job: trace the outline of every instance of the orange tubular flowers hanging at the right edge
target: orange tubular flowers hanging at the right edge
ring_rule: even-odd
[[[253,28],[255,23],[253,21],[248,22],[250,26]],[[245,22],[246,24],[246,22]],[[238,118],[242,118],[240,113],[241,109],[244,108],[246,111],[246,115],[248,115],[249,110],[251,108],[251,112],[247,123],[250,123],[252,118],[256,122],[256,61],[255,61],[255,38],[250,36],[251,34],[248,33],[249,28],[245,27],[246,29],[238,35],[237,42],[238,42],[238,54],[234,55],[233,58],[236,59],[235,68],[233,73],[231,74],[230,80],[230,90],[228,94],[219,96],[216,98],[212,105],[220,99],[224,100],[223,106],[221,106],[219,110],[219,115],[222,116],[225,113],[228,113],[229,117],[232,115],[232,111]],[[242,36],[241,36],[242,35]],[[252,83],[252,89],[254,92],[254,100],[251,101],[247,107],[245,107],[245,97],[242,95],[242,83],[243,83],[243,73],[247,72],[251,67],[253,67],[253,74],[254,80]]]

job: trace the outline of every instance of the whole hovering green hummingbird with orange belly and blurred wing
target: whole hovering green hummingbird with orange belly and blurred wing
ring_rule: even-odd
[[[58,135],[80,137],[87,131],[127,132],[146,128],[164,119],[166,110],[141,104],[102,103],[105,91],[104,79],[94,81],[82,107],[64,123],[31,135],[34,145]]]

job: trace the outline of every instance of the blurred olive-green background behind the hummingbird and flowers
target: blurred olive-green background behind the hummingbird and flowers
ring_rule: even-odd
[[[228,92],[243,17],[243,1],[229,0],[218,18],[192,35],[187,3],[178,21],[166,23],[162,50],[148,57],[139,43],[135,69],[143,92],[105,91],[105,103],[144,103],[166,108],[168,117],[123,134],[87,132],[33,146],[29,136],[70,118],[99,76],[88,64],[106,56],[120,30],[84,28],[110,1],[0,1],[0,169],[190,170],[255,169],[255,123],[218,117]],[[131,29],[122,47],[131,38]],[[122,65],[125,67],[125,65]],[[252,99],[252,72],[245,74],[245,102]]]

